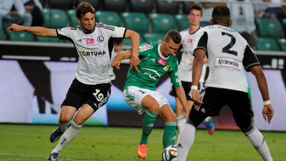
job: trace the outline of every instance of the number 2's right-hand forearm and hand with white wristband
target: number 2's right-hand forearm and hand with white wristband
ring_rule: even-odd
[[[264,101],[264,107],[262,110],[262,115],[264,120],[266,120],[268,122],[268,124],[270,124],[270,121],[272,119],[272,116],[274,114],[274,110],[270,104],[270,99],[269,99],[269,94],[268,94],[268,86],[267,86],[267,82],[265,79],[265,76],[263,74],[262,68],[261,66],[254,66],[250,68],[250,71],[252,74],[254,74],[256,80],[257,80],[257,84],[259,87],[259,90],[261,92],[263,101]]]

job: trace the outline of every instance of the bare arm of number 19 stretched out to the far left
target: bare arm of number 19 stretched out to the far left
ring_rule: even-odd
[[[26,26],[19,26],[13,23],[9,28],[9,32],[18,32],[18,31],[25,31],[28,33],[32,33],[36,36],[41,37],[51,37],[51,38],[57,38],[57,32],[55,29],[48,29],[45,27],[26,27]]]

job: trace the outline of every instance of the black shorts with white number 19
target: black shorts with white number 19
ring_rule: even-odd
[[[88,104],[96,111],[106,104],[110,93],[111,83],[89,85],[83,84],[75,78],[68,89],[62,106],[72,106],[78,110],[82,104]]]

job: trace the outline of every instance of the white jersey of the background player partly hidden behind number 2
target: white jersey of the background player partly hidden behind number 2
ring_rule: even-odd
[[[195,33],[190,34],[190,28],[185,29],[180,32],[182,37],[183,53],[181,57],[181,61],[179,64],[179,73],[181,81],[192,82],[193,78],[193,65],[190,65],[191,60],[194,59],[193,51],[194,51],[194,38]],[[200,82],[205,81],[207,64],[205,63],[203,66],[203,71],[201,74]]]

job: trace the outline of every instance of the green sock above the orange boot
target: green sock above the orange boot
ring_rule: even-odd
[[[143,118],[142,123],[142,137],[139,145],[147,144],[148,136],[151,134],[156,116],[158,114],[154,114],[150,111],[146,111],[145,116]]]

